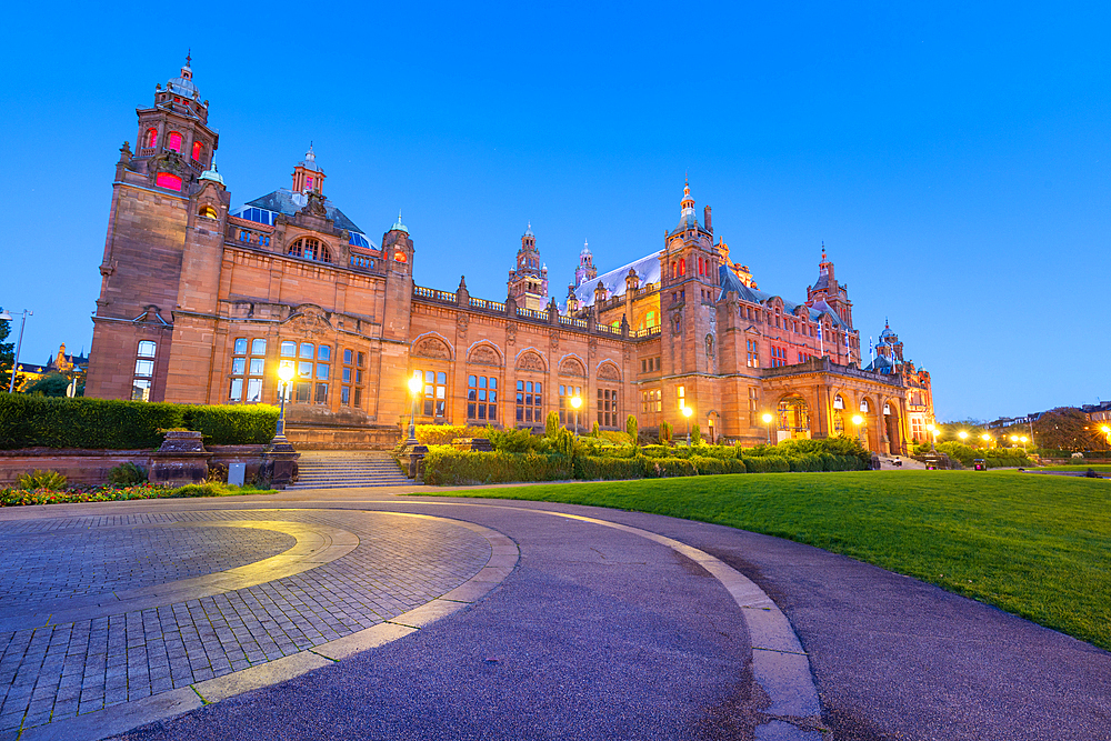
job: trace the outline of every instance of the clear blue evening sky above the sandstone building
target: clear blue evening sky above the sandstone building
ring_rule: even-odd
[[[940,418],[1111,397],[1109,6],[781,4],[9,8],[21,359],[89,347],[118,149],[191,47],[233,203],[312,140],[372,239],[404,209],[420,284],[503,299],[531,221],[562,297],[584,239],[603,270],[659,250],[689,171],[762,289],[804,299],[824,240]]]

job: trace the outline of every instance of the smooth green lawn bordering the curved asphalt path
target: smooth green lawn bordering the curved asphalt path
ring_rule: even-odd
[[[747,473],[441,495],[593,504],[788,538],[1111,650],[1111,481],[1015,471]]]

